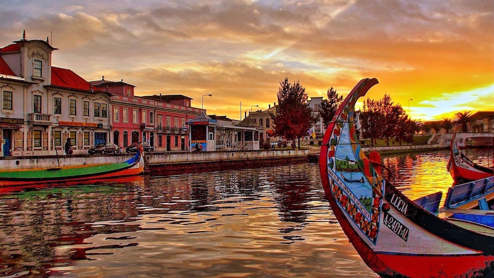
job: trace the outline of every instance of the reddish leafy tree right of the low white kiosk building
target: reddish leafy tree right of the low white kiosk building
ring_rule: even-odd
[[[271,115],[275,136],[285,136],[291,140],[292,148],[295,148],[295,139],[299,139],[300,148],[300,137],[307,135],[315,122],[312,109],[307,104],[305,88],[298,81],[290,84],[288,78],[285,78],[280,82],[277,97],[276,115]]]

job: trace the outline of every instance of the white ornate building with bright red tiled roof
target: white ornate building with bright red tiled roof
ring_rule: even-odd
[[[21,40],[0,48],[1,156],[61,155],[107,140],[110,94],[68,69],[51,66],[48,40]]]

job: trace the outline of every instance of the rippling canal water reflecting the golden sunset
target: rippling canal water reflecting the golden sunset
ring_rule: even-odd
[[[382,160],[416,199],[452,185],[448,156]],[[3,192],[0,276],[377,277],[308,162]]]

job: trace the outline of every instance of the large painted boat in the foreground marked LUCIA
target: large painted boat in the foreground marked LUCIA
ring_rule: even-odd
[[[428,198],[421,200],[423,204],[407,198],[364,155],[355,132],[354,106],[377,83],[362,79],[353,88],[321,146],[322,184],[346,236],[364,262],[383,277],[493,275],[493,228],[450,219],[451,211],[442,212],[446,218],[441,218],[428,208]],[[435,203],[433,207],[439,201]]]

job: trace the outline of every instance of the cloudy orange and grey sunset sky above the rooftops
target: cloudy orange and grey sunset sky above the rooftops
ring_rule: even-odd
[[[388,93],[413,119],[494,111],[493,0],[0,2],[1,46],[25,29],[59,49],[54,66],[195,107],[212,94],[208,114],[267,109],[285,78],[326,98],[367,77],[380,83],[366,97]]]

